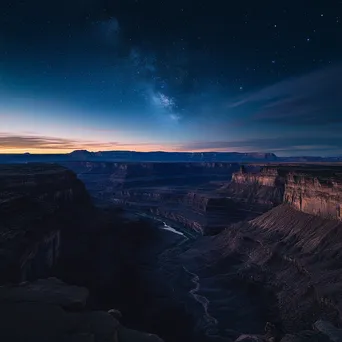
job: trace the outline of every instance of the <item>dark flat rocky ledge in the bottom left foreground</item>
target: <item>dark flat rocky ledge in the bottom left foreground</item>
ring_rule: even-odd
[[[162,342],[127,329],[117,310],[89,311],[88,290],[48,278],[0,287],[0,340],[6,342]]]

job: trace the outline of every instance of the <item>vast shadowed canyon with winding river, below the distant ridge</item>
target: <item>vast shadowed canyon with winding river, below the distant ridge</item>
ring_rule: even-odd
[[[339,165],[60,164],[0,165],[2,315],[65,289],[108,340],[339,341]]]

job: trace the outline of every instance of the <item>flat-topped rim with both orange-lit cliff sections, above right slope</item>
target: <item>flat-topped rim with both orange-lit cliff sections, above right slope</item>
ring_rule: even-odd
[[[288,203],[307,214],[342,220],[342,173],[336,166],[274,165],[253,173],[241,167],[222,191],[235,201]]]

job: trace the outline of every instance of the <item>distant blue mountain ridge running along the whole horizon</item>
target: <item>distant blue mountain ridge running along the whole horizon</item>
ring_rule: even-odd
[[[107,162],[342,162],[339,157],[278,157],[274,153],[136,152],[76,150],[67,154],[0,154],[0,163],[107,161]]]

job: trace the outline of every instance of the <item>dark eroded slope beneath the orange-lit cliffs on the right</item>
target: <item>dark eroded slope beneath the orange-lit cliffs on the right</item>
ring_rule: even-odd
[[[169,264],[175,288],[179,265],[198,276],[198,295],[205,298],[216,322],[210,329],[218,335],[226,336],[227,329],[262,333],[260,325],[267,321],[280,334],[294,334],[319,319],[337,326],[342,321],[341,234],[339,221],[281,204],[166,252],[163,265]]]

